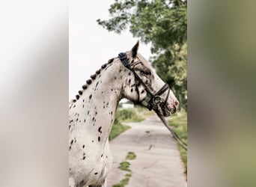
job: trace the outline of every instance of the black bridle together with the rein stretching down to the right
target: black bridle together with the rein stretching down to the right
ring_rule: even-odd
[[[147,88],[147,85],[144,84],[144,82],[141,80],[141,78],[138,76],[138,74],[135,73],[135,70],[130,66],[129,59],[127,58],[127,54],[125,52],[121,52],[118,54],[118,58],[121,60],[124,67],[127,67],[127,69],[130,70],[133,73],[133,75],[135,76],[135,90],[138,93],[138,99],[137,99],[137,102],[135,102],[135,104],[138,104],[140,102],[138,83],[136,83],[136,80],[137,80],[144,87],[145,91],[147,91],[147,93],[151,96],[151,99],[149,101],[149,105],[147,106],[147,108],[149,110],[152,110],[152,108],[153,108],[153,110],[156,111],[156,114],[162,120],[162,123],[164,123],[166,128],[171,132],[171,135],[180,144],[180,146],[183,147],[184,150],[187,150],[187,144],[180,139],[180,137],[173,131],[173,129],[171,129],[170,126],[168,126],[168,123],[165,120],[165,117],[162,113],[162,108],[165,107],[169,93],[170,93],[170,88],[169,88],[168,84],[165,83],[165,85],[163,85],[159,91],[157,91],[155,94],[153,94],[150,91],[150,89]],[[137,65],[137,64],[135,64],[135,65]],[[166,96],[165,100],[162,100],[162,98],[160,96],[162,95],[162,93],[165,93],[165,91],[167,91],[167,90],[168,90],[167,96]]]

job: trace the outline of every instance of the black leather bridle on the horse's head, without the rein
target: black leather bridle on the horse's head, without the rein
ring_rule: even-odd
[[[155,94],[153,94],[150,91],[150,89],[147,88],[147,85],[144,84],[144,82],[141,80],[141,78],[138,76],[138,74],[135,73],[134,68],[130,66],[129,59],[127,58],[127,54],[125,52],[121,52],[121,53],[118,54],[118,58],[121,60],[124,67],[127,67],[127,69],[130,70],[133,73],[133,75],[135,76],[135,90],[138,93],[138,99],[137,99],[137,102],[135,102],[135,104],[138,104],[140,102],[139,101],[140,100],[140,94],[139,94],[139,91],[138,91],[138,85],[139,85],[138,83],[140,83],[144,87],[145,91],[147,91],[147,93],[151,97],[151,99],[149,101],[149,105],[147,106],[147,108],[149,110],[152,110],[152,108],[154,110],[156,110],[156,109],[159,110],[159,108],[163,108],[166,105],[166,102],[168,100],[168,96],[169,96],[169,93],[170,93],[170,88],[169,88],[168,84],[165,83],[165,85],[163,85],[162,88],[159,91],[157,91]],[[167,91],[167,90],[168,90],[167,96],[163,100],[160,96],[162,95],[162,93],[165,93],[165,91]]]

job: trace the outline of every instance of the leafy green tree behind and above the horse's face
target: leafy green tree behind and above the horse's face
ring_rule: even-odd
[[[134,37],[151,43],[150,62],[185,109],[186,7],[182,0],[115,0],[109,8],[111,18],[97,19],[108,31],[121,33],[129,28]]]

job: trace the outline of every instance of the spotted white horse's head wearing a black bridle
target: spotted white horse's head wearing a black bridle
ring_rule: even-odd
[[[127,79],[122,85],[123,96],[162,115],[168,117],[174,114],[179,102],[168,84],[156,74],[151,64],[138,53],[137,42],[132,50],[119,54],[119,59],[124,65]]]

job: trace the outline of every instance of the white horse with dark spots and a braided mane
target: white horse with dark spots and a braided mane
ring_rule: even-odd
[[[69,103],[69,186],[106,187],[113,156],[109,133],[118,102],[136,105],[168,117],[179,102],[168,84],[138,53],[139,43],[103,64]]]

